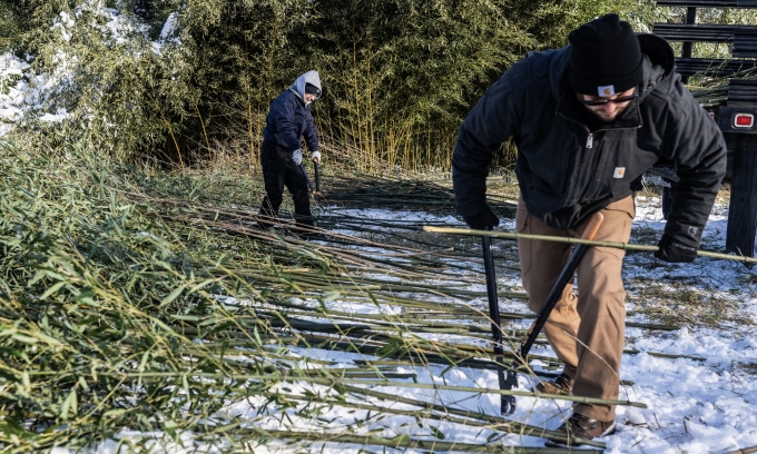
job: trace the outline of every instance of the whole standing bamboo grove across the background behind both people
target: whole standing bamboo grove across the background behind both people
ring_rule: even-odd
[[[118,30],[96,3],[118,10]],[[317,69],[332,155],[374,171],[376,160],[446,169],[458,126],[493,80],[608,10],[639,31],[681,20],[651,0],[3,0],[0,42],[37,71],[71,71],[43,107],[72,115],[59,140],[119,159],[184,167],[224,146],[254,169],[268,102]]]

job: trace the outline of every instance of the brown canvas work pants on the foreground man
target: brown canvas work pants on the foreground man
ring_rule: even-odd
[[[636,216],[633,197],[618,200],[601,210],[604,216],[596,240],[627,243]],[[548,227],[530,215],[518,200],[515,228],[519,234],[580,237],[583,223],[571,230]],[[519,239],[523,288],[529,308],[538,313],[570,255],[571,245]],[[617,399],[620,392],[620,358],[626,340],[626,290],[620,277],[622,249],[590,247],[576,272],[578,297],[567,285],[552,310],[544,334],[564,373],[572,377],[573,395]],[[573,412],[599,421],[615,420],[615,406],[574,404]]]

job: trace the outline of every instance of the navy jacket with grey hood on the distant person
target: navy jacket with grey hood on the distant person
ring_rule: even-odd
[[[318,135],[313,124],[311,106],[305,105],[305,83],[314,85],[321,90],[318,73],[307,71],[271,102],[263,130],[264,141],[292,152],[301,148],[301,139],[304,137],[311,152],[318,150]]]

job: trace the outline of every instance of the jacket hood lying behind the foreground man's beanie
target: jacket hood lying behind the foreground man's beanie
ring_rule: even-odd
[[[674,73],[676,55],[665,39],[649,33],[637,33],[643,58],[643,82],[639,87],[639,102],[641,102],[657,86]],[[558,50],[550,67],[550,86],[554,99],[562,99],[564,85],[562,77],[568,70],[571,47],[566,46]],[[572,93],[570,93],[572,96]]]

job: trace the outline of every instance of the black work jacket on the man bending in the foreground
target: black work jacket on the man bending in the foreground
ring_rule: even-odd
[[[680,177],[666,233],[698,246],[725,176],[725,140],[675,72],[667,41],[653,34],[638,39],[643,52],[639,98],[613,121],[593,128],[563,77],[570,46],[531,52],[494,82],[459,130],[452,157],[458,213],[484,209],[492,156],[512,137],[523,201],[548,226],[577,226],[631,195],[641,175],[663,162]]]

